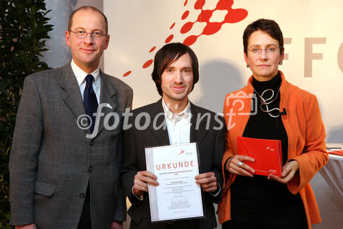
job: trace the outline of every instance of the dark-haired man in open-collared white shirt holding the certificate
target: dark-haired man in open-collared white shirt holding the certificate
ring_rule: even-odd
[[[128,129],[124,127],[121,182],[132,203],[128,210],[132,218],[130,228],[216,227],[213,202],[219,203],[222,198],[221,162],[226,128],[222,116],[189,102],[188,95],[199,79],[198,58],[187,45],[167,44],[156,53],[152,78],[162,98],[134,109]],[[142,118],[141,114],[145,114],[145,117],[148,114],[150,119]],[[189,142],[198,142],[200,175],[195,177],[194,182],[204,190],[206,217],[151,223],[147,184],[156,186],[158,180],[154,174],[146,171],[145,147]]]

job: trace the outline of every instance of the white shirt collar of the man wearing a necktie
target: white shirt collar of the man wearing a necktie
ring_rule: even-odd
[[[71,60],[71,69],[73,69],[73,73],[76,77],[76,80],[78,80],[78,85],[80,88],[82,100],[84,99],[84,89],[86,88],[86,76],[88,73],[84,72],[78,65],[75,64],[73,60]],[[93,90],[95,92],[95,96],[97,96],[97,103],[100,102],[100,85],[102,83],[102,77],[100,75],[100,67],[97,67],[97,69],[91,73],[91,75],[94,77],[93,80]]]

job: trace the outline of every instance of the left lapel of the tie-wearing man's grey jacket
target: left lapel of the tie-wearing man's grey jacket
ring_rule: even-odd
[[[63,91],[62,98],[69,109],[71,109],[75,118],[78,119],[78,117],[86,114],[84,102],[80,93],[80,87],[78,86],[78,81],[75,78],[70,63],[63,67],[60,82]],[[90,132],[89,129],[86,129],[85,131],[87,133]]]

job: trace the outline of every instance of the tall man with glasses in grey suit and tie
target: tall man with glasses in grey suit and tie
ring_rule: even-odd
[[[65,36],[71,63],[25,78],[10,154],[10,223],[122,228],[121,114],[132,89],[99,69],[110,39],[102,12],[75,10]]]

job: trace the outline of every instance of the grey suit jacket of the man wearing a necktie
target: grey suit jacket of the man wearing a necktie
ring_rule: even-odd
[[[102,109],[93,139],[78,127],[78,117],[86,112],[70,64],[25,78],[10,153],[12,225],[77,228],[88,182],[93,228],[110,228],[113,220],[126,219],[119,179],[121,113],[132,105],[132,89],[100,74],[100,104],[110,106]],[[109,124],[115,123],[111,112],[120,120],[108,130],[105,116],[109,114]]]

